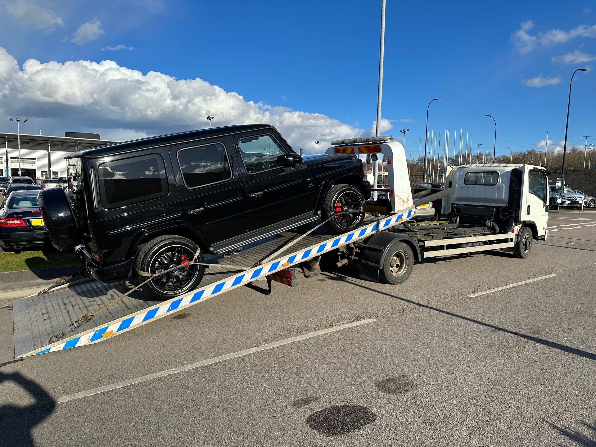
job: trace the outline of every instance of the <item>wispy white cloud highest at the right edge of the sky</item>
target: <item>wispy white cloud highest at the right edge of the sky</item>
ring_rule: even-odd
[[[577,37],[596,38],[596,25],[579,25],[567,31],[551,29],[531,35],[529,32],[534,27],[532,20],[523,21],[520,28],[511,34],[510,42],[521,54],[532,51],[536,46],[552,46],[564,44]]]

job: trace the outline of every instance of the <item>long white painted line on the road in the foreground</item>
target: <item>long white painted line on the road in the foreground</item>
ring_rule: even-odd
[[[232,352],[231,354],[221,355],[219,357],[214,357],[212,359],[203,360],[200,362],[191,363],[190,365],[184,365],[182,367],[172,368],[170,370],[159,371],[159,373],[153,373],[148,375],[143,375],[142,377],[131,378],[129,380],[125,380],[118,383],[113,383],[110,385],[100,386],[98,388],[94,388],[92,390],[81,391],[79,393],[71,394],[68,396],[62,396],[58,399],[58,403],[65,403],[70,401],[75,401],[76,399],[82,399],[89,396],[93,396],[100,393],[105,393],[107,391],[116,390],[119,388],[123,388],[126,386],[131,386],[136,383],[145,382],[148,380],[153,380],[159,377],[164,377],[165,375],[172,375],[182,373],[182,371],[194,370],[196,368],[204,367],[206,365],[213,365],[218,362],[223,362],[225,360],[234,359],[237,357],[241,357],[244,355],[254,354],[255,352],[264,351],[266,349],[271,349],[272,347],[283,346],[284,344],[300,342],[301,340],[310,339],[311,337],[316,337],[323,334],[328,334],[330,332],[340,331],[342,329],[347,329],[354,326],[359,326],[361,324],[371,323],[373,321],[377,321],[374,318],[363,319],[362,321],[355,321],[352,323],[342,324],[340,326],[331,327],[328,329],[323,329],[316,332],[311,332],[308,334],[304,334],[297,337],[291,337],[291,339],[280,340],[279,342],[267,343],[262,344],[261,346],[251,347],[249,349],[244,349],[238,352]]]

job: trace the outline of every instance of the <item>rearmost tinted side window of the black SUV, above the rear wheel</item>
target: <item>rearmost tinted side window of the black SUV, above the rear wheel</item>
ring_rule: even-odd
[[[101,203],[106,209],[167,195],[166,166],[158,154],[102,163],[98,167]]]

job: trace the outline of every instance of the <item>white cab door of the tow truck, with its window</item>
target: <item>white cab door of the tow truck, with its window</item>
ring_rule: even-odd
[[[526,167],[525,204],[520,218],[523,221],[534,222],[538,236],[544,236],[548,225],[548,190],[547,173],[535,167]]]

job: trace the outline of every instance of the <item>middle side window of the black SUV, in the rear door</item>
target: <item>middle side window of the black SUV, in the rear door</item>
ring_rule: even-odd
[[[232,178],[228,155],[221,143],[178,151],[178,163],[187,188],[198,188]]]

